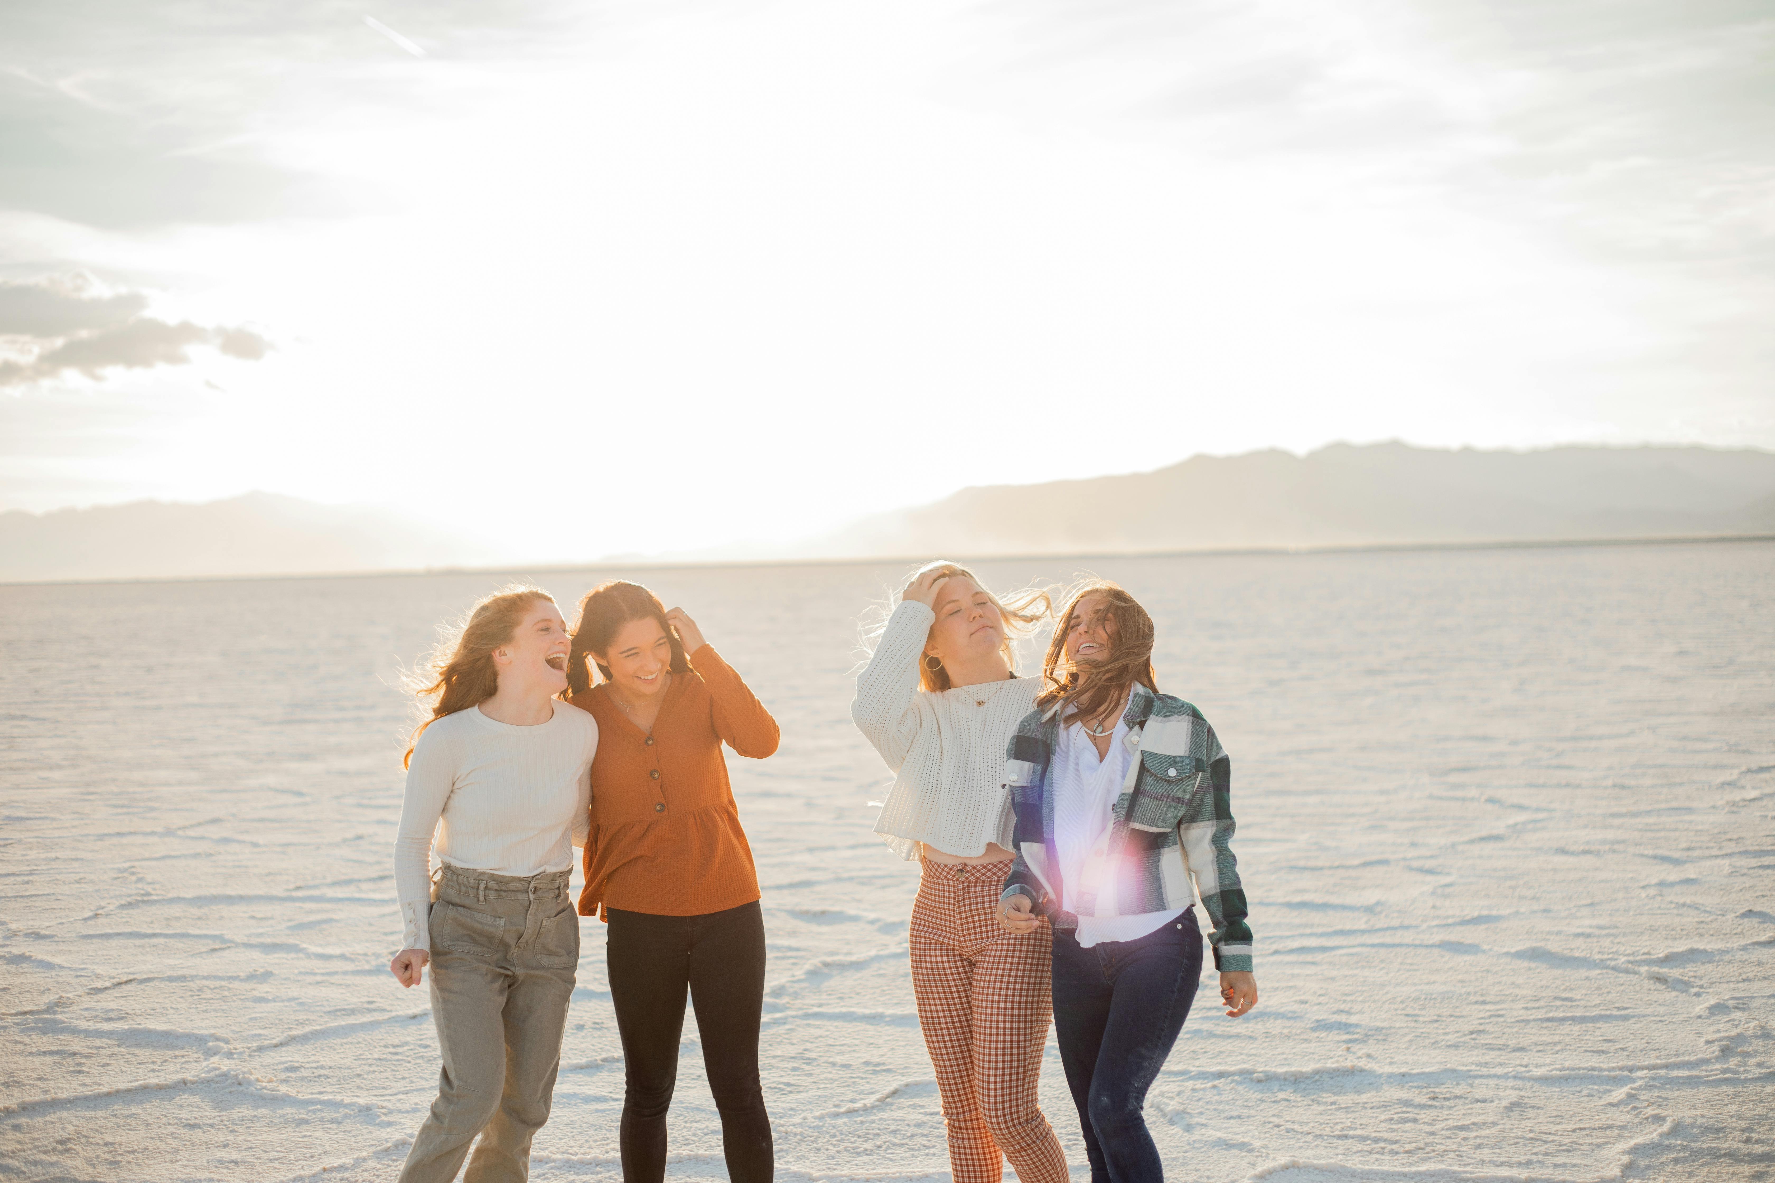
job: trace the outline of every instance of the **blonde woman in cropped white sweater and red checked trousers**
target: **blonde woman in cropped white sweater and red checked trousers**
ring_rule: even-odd
[[[921,862],[909,944],[912,993],[937,1069],[955,1183],[1065,1183],[1067,1160],[1037,1103],[1051,1020],[1051,940],[996,919],[1014,855],[1005,750],[1040,686],[1017,678],[1008,633],[1047,612],[1010,607],[971,571],[932,562],[902,591],[857,676],[850,718],[895,784],[875,832]]]

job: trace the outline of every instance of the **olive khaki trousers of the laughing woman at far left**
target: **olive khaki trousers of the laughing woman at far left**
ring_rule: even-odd
[[[431,905],[431,1020],[444,1071],[401,1183],[524,1183],[548,1121],[579,965],[568,873],[444,867]]]

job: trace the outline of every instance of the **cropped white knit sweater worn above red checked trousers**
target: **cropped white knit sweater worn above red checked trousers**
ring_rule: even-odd
[[[902,601],[850,704],[852,722],[896,773],[875,832],[907,860],[919,857],[919,842],[960,857],[983,855],[989,842],[1012,848],[1005,750],[1040,690],[1035,678],[919,690],[918,662],[935,621],[916,599]]]

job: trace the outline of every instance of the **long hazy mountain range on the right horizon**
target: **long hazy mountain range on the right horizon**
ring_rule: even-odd
[[[809,555],[1038,555],[1775,534],[1775,454],[1333,443],[1157,472],[971,488],[877,514]]]

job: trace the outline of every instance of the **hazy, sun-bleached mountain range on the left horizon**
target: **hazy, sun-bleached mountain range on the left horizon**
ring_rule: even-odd
[[[275,493],[202,505],[0,513],[0,582],[309,575],[497,559],[486,546],[399,514]]]

